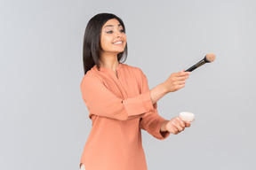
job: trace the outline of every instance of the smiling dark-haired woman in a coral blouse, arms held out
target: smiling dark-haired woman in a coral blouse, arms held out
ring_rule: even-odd
[[[156,88],[140,68],[122,64],[127,43],[122,19],[114,14],[95,15],[84,34],[84,78],[81,91],[92,130],[80,166],[86,170],[146,170],[140,129],[157,139],[179,134],[189,122],[164,120],[157,113],[161,97],[184,88],[188,72],[171,76]],[[124,60],[125,60],[124,58]]]

